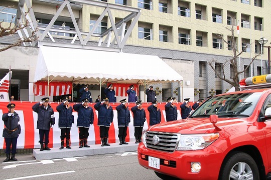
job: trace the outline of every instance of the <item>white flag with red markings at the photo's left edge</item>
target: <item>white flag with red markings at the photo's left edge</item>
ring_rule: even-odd
[[[0,101],[9,102],[9,88],[10,88],[10,75],[12,71],[8,72],[3,79],[0,80]]]

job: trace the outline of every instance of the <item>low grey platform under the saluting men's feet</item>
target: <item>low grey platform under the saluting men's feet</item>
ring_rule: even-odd
[[[115,152],[128,152],[138,150],[138,143],[129,142],[129,144],[119,145],[118,143],[110,143],[110,146],[101,146],[101,144],[90,145],[90,147],[71,146],[71,149],[64,147],[59,149],[54,147],[51,150],[33,149],[33,155],[37,160],[78,157],[85,155],[98,155]]]

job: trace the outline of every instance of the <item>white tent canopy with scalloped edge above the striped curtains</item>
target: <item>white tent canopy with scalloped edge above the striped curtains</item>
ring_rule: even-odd
[[[155,55],[41,46],[34,82],[38,80],[144,84],[183,77]]]

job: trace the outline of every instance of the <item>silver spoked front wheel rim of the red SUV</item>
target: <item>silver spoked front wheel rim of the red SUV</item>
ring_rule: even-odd
[[[236,163],[230,170],[229,180],[253,180],[253,172],[250,166],[245,162]]]

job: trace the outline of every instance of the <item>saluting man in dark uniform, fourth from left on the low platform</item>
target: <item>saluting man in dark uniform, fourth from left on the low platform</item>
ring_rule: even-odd
[[[113,121],[114,113],[113,108],[109,104],[109,99],[107,97],[102,99],[102,102],[97,102],[94,105],[94,108],[98,111],[98,126],[100,126],[100,138],[101,146],[110,144],[107,143],[108,140],[108,131],[111,122]]]

